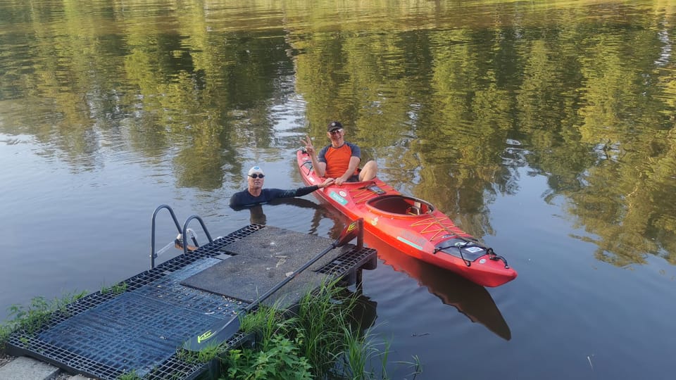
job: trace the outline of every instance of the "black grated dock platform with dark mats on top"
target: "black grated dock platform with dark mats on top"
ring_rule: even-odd
[[[38,331],[15,331],[8,353],[98,379],[132,371],[142,379],[195,379],[210,365],[185,361],[184,341],[231,319],[331,243],[251,224],[122,281],[119,293],[97,291],[71,303]],[[353,283],[376,265],[372,248],[335,248],[265,303],[291,307],[325,279]],[[240,331],[227,344],[250,339]]]

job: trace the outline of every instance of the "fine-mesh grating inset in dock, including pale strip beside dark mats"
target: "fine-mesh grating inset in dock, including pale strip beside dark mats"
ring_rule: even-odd
[[[178,284],[216,262],[220,260],[197,260],[137,291],[82,312],[39,337],[73,353],[87,353],[104,365],[145,374],[193,335],[186,331],[204,330],[237,311],[234,300]]]

